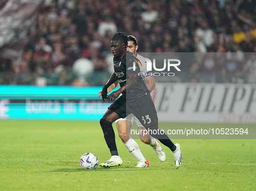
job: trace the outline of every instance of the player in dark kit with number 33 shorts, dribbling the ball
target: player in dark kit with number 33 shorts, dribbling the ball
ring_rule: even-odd
[[[135,56],[133,53],[126,50],[127,45],[127,35],[122,32],[117,32],[111,39],[110,46],[114,56],[114,73],[103,87],[101,96],[103,101],[104,99],[114,100],[118,98],[121,93],[122,96],[110,105],[106,113],[100,119],[100,126],[111,153],[111,158],[100,164],[102,167],[121,166],[123,164],[117,152],[115,134],[112,127],[112,123],[117,119],[125,118],[132,113],[138,118],[141,124],[144,124],[144,127],[159,132],[155,105],[145,82],[142,77],[138,75],[140,73],[139,67],[133,64]],[[107,88],[117,80],[119,81],[120,89],[107,95]],[[166,134],[152,134],[152,131],[149,131],[152,137],[158,139],[162,144],[172,150],[175,166],[179,167],[182,161],[179,144],[172,143]]]

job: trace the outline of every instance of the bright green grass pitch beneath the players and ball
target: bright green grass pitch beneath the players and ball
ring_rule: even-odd
[[[166,161],[160,162],[150,146],[136,140],[149,161],[149,168],[137,169],[113,127],[123,165],[83,170],[84,153],[94,153],[99,163],[110,158],[98,121],[0,120],[0,191],[256,191],[255,140],[173,140],[181,145],[179,169],[167,147],[162,146]]]

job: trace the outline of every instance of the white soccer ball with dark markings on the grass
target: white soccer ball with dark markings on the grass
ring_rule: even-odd
[[[98,158],[93,153],[85,153],[81,156],[80,166],[82,169],[96,169],[98,166]]]

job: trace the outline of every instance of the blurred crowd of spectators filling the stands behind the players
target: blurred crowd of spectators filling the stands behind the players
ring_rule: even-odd
[[[138,52],[232,52],[182,63],[181,82],[256,83],[255,0],[45,0],[20,56],[1,59],[0,84],[103,85],[115,32]]]

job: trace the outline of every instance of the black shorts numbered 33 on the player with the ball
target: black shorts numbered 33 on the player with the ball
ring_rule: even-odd
[[[126,102],[126,99],[121,96],[110,105],[109,109],[116,112],[120,118],[125,118],[132,113],[146,129],[154,130],[158,127],[156,108],[150,95],[132,102]]]

